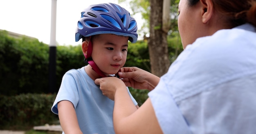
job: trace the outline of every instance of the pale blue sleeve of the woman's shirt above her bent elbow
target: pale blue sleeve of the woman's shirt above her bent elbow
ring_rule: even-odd
[[[179,108],[167,91],[166,84],[160,80],[155,89],[148,93],[158,123],[164,134],[190,134],[191,131]]]

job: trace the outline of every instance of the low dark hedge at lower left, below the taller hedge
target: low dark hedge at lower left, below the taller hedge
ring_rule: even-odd
[[[51,112],[56,94],[0,95],[0,130],[28,129],[52,124],[58,116]]]

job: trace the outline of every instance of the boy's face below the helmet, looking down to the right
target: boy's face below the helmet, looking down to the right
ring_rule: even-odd
[[[101,34],[92,38],[92,59],[108,74],[115,74],[124,66],[128,50],[128,37]]]

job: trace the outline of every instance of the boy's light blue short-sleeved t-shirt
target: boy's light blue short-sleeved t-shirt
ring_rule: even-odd
[[[129,89],[127,88],[130,94]],[[132,102],[137,102],[130,94]],[[114,101],[102,94],[84,67],[72,69],[63,76],[52,112],[58,114],[57,104],[62,100],[72,102],[83,134],[115,134],[113,128]],[[63,132],[64,134],[64,132]]]

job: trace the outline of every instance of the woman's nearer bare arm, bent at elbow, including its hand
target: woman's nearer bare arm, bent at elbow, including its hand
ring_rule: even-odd
[[[115,100],[113,123],[117,134],[161,134],[162,130],[150,99],[137,109],[134,106],[126,85],[116,77],[95,80],[103,95]]]

